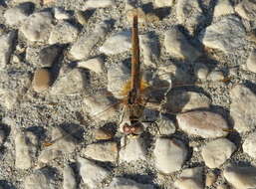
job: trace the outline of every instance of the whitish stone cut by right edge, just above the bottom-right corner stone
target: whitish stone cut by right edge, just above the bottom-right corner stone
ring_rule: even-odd
[[[244,140],[243,151],[248,155],[250,155],[252,158],[256,159],[256,149],[254,145],[255,142],[256,142],[256,132],[252,132]]]

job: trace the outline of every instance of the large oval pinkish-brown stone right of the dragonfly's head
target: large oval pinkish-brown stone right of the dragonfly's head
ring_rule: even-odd
[[[203,138],[223,137],[228,134],[228,124],[219,114],[210,111],[194,110],[176,116],[178,126],[189,135]]]

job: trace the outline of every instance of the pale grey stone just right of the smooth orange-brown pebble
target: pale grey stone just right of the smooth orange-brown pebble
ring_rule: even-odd
[[[78,69],[67,71],[59,76],[50,91],[51,95],[75,95],[84,90],[83,72]]]

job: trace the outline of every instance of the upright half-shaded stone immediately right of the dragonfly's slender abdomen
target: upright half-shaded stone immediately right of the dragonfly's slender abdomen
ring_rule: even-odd
[[[152,34],[144,34],[139,36],[141,54],[143,56],[143,64],[155,67],[160,56],[160,47],[157,37]]]

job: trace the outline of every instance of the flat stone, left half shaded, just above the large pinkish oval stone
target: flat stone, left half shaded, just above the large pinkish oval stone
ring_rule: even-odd
[[[167,103],[165,107],[169,112],[176,113],[196,108],[207,108],[210,103],[211,99],[206,95],[195,92],[173,90],[167,95]]]

